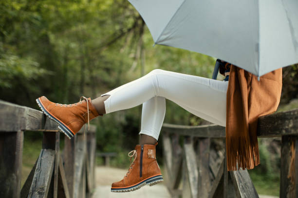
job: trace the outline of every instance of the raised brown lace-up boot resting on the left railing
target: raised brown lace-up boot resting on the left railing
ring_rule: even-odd
[[[81,101],[81,99],[83,100]],[[59,104],[48,100],[45,96],[36,99],[38,106],[52,120],[58,123],[58,128],[69,139],[74,137],[82,126],[89,120],[98,116],[91,99],[81,97],[80,101],[74,104]],[[100,114],[103,116],[102,114]]]

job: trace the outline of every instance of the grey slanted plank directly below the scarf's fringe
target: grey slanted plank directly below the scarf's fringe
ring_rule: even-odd
[[[259,198],[247,170],[229,171],[237,198]]]

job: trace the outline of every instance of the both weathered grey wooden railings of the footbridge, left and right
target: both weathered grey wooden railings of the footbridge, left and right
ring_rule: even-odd
[[[43,133],[39,157],[20,189],[23,137]],[[0,198],[89,198],[94,191],[96,128],[65,138],[60,152],[56,123],[42,112],[0,100]],[[225,137],[217,125],[164,123],[165,179],[171,197],[258,198],[247,170],[227,171],[225,153],[211,138]],[[280,198],[298,198],[298,109],[259,118],[258,137],[282,137]],[[97,195],[100,193],[97,192]]]

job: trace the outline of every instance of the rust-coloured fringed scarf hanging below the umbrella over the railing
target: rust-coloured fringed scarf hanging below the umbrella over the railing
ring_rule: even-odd
[[[274,113],[279,105],[281,68],[258,77],[232,65],[226,95],[227,169],[252,169],[260,164],[258,117]]]

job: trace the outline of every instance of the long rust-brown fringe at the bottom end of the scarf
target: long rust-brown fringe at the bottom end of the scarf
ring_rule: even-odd
[[[258,138],[230,136],[225,140],[227,170],[252,169],[260,164]]]

